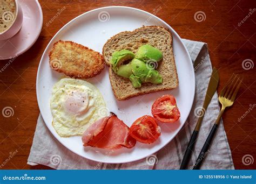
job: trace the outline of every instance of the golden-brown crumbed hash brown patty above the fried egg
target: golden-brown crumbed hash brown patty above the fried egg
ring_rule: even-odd
[[[49,59],[52,69],[79,79],[93,77],[105,67],[99,52],[73,41],[57,41],[53,44]]]

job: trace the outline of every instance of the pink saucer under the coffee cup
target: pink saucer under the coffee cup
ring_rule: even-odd
[[[23,11],[21,30],[12,38],[0,41],[0,60],[11,59],[28,51],[43,26],[43,12],[37,0],[18,0]]]

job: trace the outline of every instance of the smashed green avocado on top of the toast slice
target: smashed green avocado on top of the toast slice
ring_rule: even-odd
[[[163,82],[156,68],[152,67],[157,66],[157,62],[161,59],[163,59],[163,54],[159,49],[151,45],[142,45],[136,54],[126,49],[114,52],[111,58],[111,68],[117,75],[130,79],[134,88],[140,88],[142,83]]]

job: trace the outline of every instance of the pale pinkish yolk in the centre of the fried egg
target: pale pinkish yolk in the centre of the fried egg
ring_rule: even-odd
[[[65,110],[75,115],[85,114],[88,104],[89,95],[86,91],[72,91],[65,101]]]

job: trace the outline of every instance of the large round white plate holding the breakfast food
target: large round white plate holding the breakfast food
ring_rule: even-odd
[[[160,123],[161,136],[153,144],[147,145],[137,142],[131,149],[122,148],[117,151],[104,150],[100,148],[86,147],[82,145],[81,137],[62,138],[59,137],[52,127],[52,115],[50,110],[51,89],[63,74],[53,71],[49,67],[48,53],[55,41],[72,40],[85,45],[98,52],[102,52],[104,43],[121,31],[134,30],[142,25],[160,25],[172,32],[173,50],[179,77],[179,87],[171,91],[161,91],[142,95],[126,101],[117,101],[113,95],[109,81],[109,74],[105,68],[102,73],[87,80],[94,84],[104,96],[107,108],[117,114],[128,126],[143,115],[151,115],[151,105],[164,94],[172,94],[176,97],[181,117],[173,124]],[[194,100],[194,70],[187,49],[181,42],[178,34],[163,20],[151,13],[124,7],[110,6],[95,9],[71,20],[52,38],[46,47],[39,64],[37,73],[37,100],[43,119],[60,143],[72,152],[95,161],[106,163],[124,163],[139,160],[151,155],[169,143],[184,125],[190,113]]]

